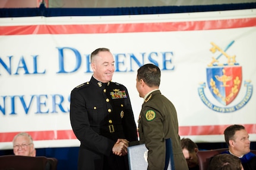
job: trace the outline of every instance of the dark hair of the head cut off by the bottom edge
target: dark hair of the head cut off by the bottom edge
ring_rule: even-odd
[[[227,153],[219,154],[210,161],[209,170],[241,170],[241,160]]]

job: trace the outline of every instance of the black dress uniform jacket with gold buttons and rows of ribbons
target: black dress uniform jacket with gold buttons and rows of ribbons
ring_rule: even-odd
[[[127,156],[112,153],[117,139],[138,140],[127,88],[92,76],[71,91],[70,100],[72,130],[81,142],[78,169],[128,169]]]

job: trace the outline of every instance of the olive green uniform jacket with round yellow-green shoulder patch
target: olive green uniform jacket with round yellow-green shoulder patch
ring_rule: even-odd
[[[138,120],[140,143],[148,149],[148,170],[165,168],[165,139],[172,139],[175,170],[188,165],[181,149],[178,118],[174,105],[159,90],[151,92],[144,101]]]

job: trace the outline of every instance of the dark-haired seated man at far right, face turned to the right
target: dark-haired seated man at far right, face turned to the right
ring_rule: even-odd
[[[234,124],[224,131],[225,141],[229,150],[223,153],[229,153],[237,156],[245,170],[256,169],[256,155],[250,152],[249,134],[242,125]]]

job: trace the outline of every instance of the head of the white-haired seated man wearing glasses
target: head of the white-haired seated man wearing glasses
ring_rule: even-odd
[[[33,139],[29,133],[21,132],[12,140],[14,155],[36,156]]]

